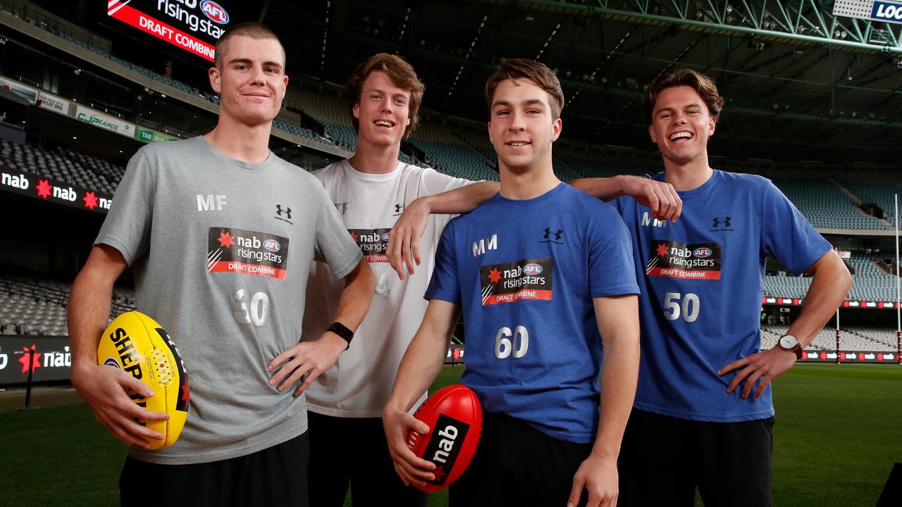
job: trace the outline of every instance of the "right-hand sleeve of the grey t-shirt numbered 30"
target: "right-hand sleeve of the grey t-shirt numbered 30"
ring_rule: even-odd
[[[317,182],[310,185],[318,193],[320,202],[317,217],[316,258],[329,266],[336,278],[345,278],[354,271],[364,253],[354,243],[354,239],[345,229],[338,210],[326,194],[326,189]]]

